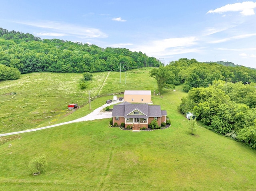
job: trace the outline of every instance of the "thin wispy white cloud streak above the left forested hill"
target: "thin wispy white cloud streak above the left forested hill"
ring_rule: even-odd
[[[87,28],[76,26],[74,24],[58,23],[52,21],[38,21],[38,22],[16,22],[19,24],[34,26],[38,28],[44,28],[52,30],[49,34],[62,33],[65,35],[76,35],[81,38],[106,38],[108,35],[95,28]],[[42,33],[46,34],[46,33]]]

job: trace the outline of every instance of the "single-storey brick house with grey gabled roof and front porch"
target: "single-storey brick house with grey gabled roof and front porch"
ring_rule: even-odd
[[[113,124],[121,125],[124,123],[126,128],[128,125],[132,126],[132,130],[139,131],[140,128],[148,128],[148,124],[156,119],[159,126],[162,122],[166,122],[167,112],[161,110],[160,105],[148,104],[132,104],[129,102],[122,102],[121,104],[113,106],[112,118]]]

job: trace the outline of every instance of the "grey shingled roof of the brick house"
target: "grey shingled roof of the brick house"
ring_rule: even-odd
[[[129,115],[134,110],[138,110],[145,115]],[[124,102],[119,105],[113,106],[113,117],[124,117],[124,118],[148,118],[148,117],[162,117],[166,115],[166,110],[161,110],[160,105],[148,105],[148,104],[131,104]]]

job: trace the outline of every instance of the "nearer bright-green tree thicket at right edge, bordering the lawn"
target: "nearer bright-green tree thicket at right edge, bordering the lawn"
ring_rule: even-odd
[[[214,81],[191,89],[178,108],[192,112],[210,130],[256,149],[256,83]]]

